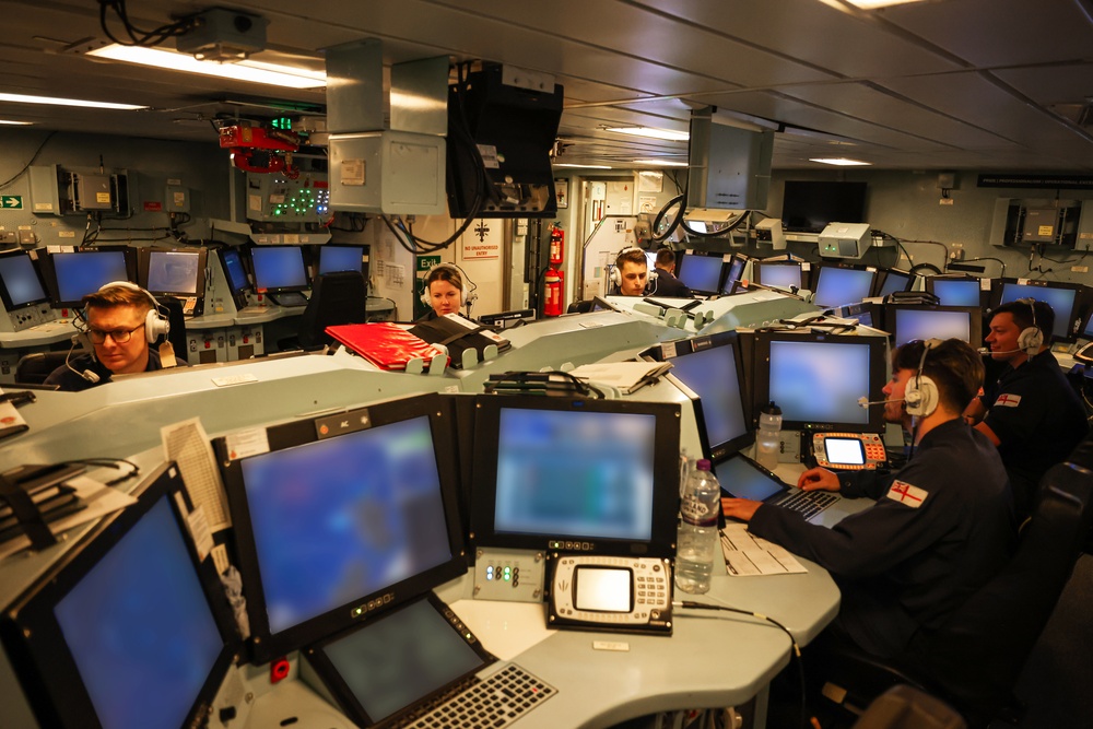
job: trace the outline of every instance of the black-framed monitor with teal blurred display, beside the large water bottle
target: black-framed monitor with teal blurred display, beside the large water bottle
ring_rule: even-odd
[[[674,554],[678,404],[480,396],[473,450],[477,545]]]

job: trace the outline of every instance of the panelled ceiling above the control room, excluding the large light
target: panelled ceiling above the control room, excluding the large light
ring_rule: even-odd
[[[150,30],[216,4],[131,0],[128,12]],[[267,17],[268,48],[316,68],[324,48],[378,37],[387,63],[448,56],[554,74],[565,87],[559,162],[685,161],[685,143],[602,128],[685,130],[691,109],[709,105],[783,130],[775,168],[850,156],[889,169],[1093,171],[1093,126],[1078,122],[1093,101],[1093,0],[933,0],[872,12],[841,0],[221,4]],[[0,12],[0,92],[154,107],[0,102],[0,118],[215,144],[218,114],[260,114],[245,104],[278,99],[324,104],[321,91],[92,60],[82,51],[106,43],[94,0],[2,1]]]

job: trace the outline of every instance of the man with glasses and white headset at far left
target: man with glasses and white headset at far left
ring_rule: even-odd
[[[115,374],[162,369],[160,353],[149,341],[165,333],[166,322],[153,310],[152,302],[150,293],[128,282],[108,283],[84,296],[85,333],[94,353],[67,361],[45,384],[68,391],[85,390],[109,381]]]

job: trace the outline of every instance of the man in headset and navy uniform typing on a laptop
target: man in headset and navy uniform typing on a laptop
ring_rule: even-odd
[[[830,529],[749,499],[725,498],[721,509],[831,573],[842,603],[825,639],[906,658],[915,635],[940,626],[1009,558],[1016,533],[998,451],[961,418],[983,380],[978,353],[956,339],[908,342],[892,372],[884,419],[914,434],[907,465],[894,474],[813,468],[798,482],[874,505]]]

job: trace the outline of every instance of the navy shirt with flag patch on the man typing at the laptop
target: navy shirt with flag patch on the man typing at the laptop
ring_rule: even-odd
[[[1015,543],[998,450],[962,419],[927,433],[894,474],[839,477],[846,497],[877,499],[832,528],[764,504],[749,529],[827,569],[842,591],[833,626],[863,650],[893,658],[1009,558]]]

